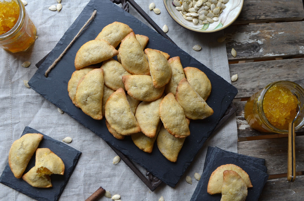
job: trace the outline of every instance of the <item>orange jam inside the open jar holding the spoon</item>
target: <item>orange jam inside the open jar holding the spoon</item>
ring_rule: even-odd
[[[263,109],[268,121],[276,128],[288,130],[289,122],[298,112],[298,99],[282,86],[272,86],[264,95]]]

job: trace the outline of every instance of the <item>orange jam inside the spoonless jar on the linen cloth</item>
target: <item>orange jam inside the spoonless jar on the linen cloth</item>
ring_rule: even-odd
[[[20,10],[17,2],[0,2],[0,35],[13,28],[18,21],[19,12]]]

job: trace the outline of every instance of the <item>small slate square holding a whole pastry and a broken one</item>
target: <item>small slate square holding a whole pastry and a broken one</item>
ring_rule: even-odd
[[[0,182],[33,199],[39,201],[57,201],[74,171],[81,152],[30,127],[25,127],[21,136],[25,135],[26,133],[40,133],[43,135],[43,139],[41,140],[38,148],[49,148],[62,159],[65,166],[64,175],[53,174],[50,176],[53,187],[36,188],[30,186],[22,178],[17,179],[12,173],[9,163],[7,163],[0,177]],[[7,156],[8,155],[9,154],[7,154]],[[29,164],[23,174],[27,173],[32,167],[35,166],[35,156],[36,154],[34,154],[29,161]]]

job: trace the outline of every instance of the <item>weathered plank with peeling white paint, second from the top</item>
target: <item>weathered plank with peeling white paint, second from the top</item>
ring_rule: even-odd
[[[224,29],[228,60],[304,55],[304,21],[234,25]],[[234,58],[231,49],[237,51]]]

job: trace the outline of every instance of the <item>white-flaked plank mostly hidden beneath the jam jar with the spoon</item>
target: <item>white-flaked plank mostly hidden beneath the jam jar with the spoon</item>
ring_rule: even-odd
[[[236,115],[236,119],[237,119],[237,135],[239,138],[275,134],[275,133],[271,133],[271,132],[259,132],[257,130],[252,129],[249,126],[249,124],[247,123],[247,121],[244,117],[244,108],[245,108],[246,101],[234,102],[233,104],[237,107],[237,111],[235,112],[235,115]],[[296,133],[297,133],[297,135],[303,135],[304,128],[300,129]]]

